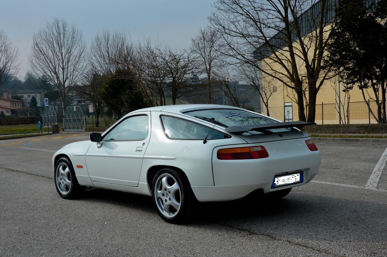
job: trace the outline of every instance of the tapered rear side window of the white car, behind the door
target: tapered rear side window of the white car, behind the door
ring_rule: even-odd
[[[172,139],[204,140],[211,128],[170,116],[160,116],[165,134]],[[228,135],[212,130],[207,140],[229,138]]]

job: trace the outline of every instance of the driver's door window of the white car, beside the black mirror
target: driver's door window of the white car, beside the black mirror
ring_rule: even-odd
[[[144,140],[148,135],[148,116],[139,115],[124,119],[103,138],[103,141],[113,140]]]

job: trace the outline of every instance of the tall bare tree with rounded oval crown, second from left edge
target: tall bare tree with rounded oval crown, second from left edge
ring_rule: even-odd
[[[65,113],[68,93],[77,85],[86,68],[86,43],[82,32],[65,20],[54,19],[33,35],[31,71],[39,79],[45,77],[59,90]]]

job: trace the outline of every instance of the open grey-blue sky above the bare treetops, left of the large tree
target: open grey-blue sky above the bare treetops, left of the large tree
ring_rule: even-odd
[[[75,24],[87,44],[103,29],[142,34],[187,48],[191,37],[208,24],[213,0],[1,0],[0,28],[19,48],[19,78],[28,70],[32,35],[54,17]]]

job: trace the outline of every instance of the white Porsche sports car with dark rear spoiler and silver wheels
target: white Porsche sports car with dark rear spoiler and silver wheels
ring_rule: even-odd
[[[321,153],[300,128],[313,124],[221,105],[140,109],[58,150],[55,186],[63,198],[86,186],[152,196],[161,218],[177,223],[195,201],[281,198],[310,182]]]

